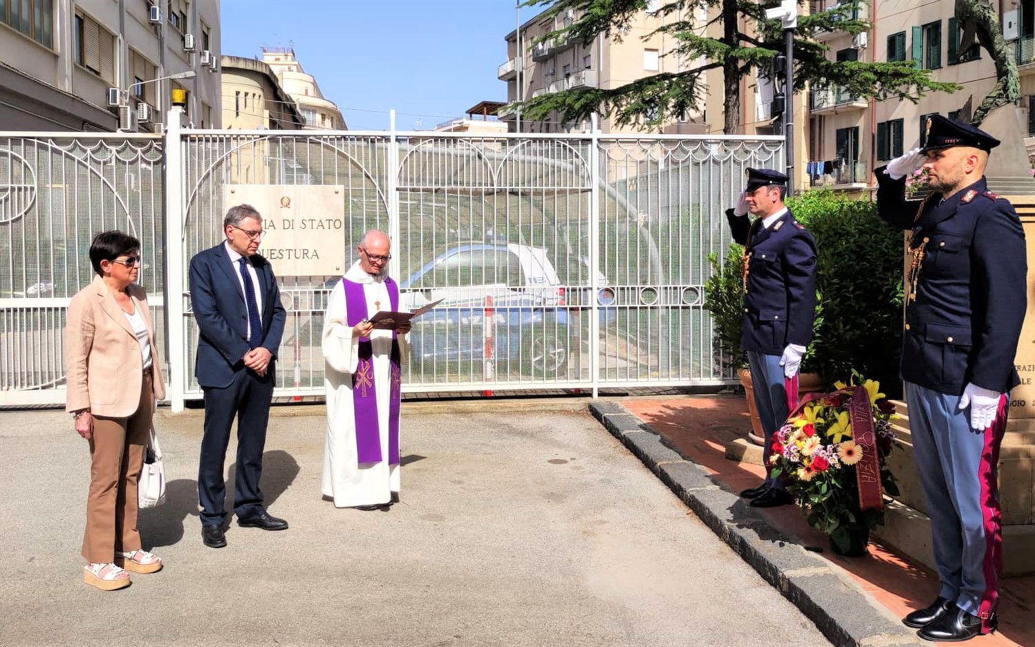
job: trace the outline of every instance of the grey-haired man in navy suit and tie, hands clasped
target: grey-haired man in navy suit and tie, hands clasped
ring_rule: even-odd
[[[224,218],[227,239],[190,259],[190,305],[198,322],[195,376],[205,391],[205,436],[198,469],[202,539],[227,546],[224,533],[224,461],[237,416],[237,524],[284,530],[288,522],[263,506],[259,479],[273,396],[276,351],[287,313],[269,262],[256,254],[262,218],[249,205]]]

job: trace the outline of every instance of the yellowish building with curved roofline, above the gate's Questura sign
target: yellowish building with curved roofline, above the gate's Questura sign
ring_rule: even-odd
[[[219,59],[223,71],[223,127],[237,130],[297,130],[305,125],[298,105],[273,68],[240,56]]]

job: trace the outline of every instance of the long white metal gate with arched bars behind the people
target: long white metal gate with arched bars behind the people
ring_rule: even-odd
[[[0,278],[0,404],[63,401],[64,306],[90,280],[92,235],[115,227],[153,259],[142,281],[165,322],[169,396],[175,408],[200,398],[187,265],[221,240],[224,198],[240,184],[344,187],[332,215],[346,251],[367,229],[390,234],[405,302],[443,299],[411,332],[408,391],[726,383],[703,310],[707,256],[728,245],[723,211],[744,168],[778,168],[782,155],[782,138],[766,137],[0,136],[0,263],[11,268]],[[36,231],[76,246],[56,251]],[[282,278],[278,395],[323,393],[336,280]]]

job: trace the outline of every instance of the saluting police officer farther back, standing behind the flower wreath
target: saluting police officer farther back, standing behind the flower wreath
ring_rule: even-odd
[[[747,169],[747,186],[727,209],[733,239],[744,245],[744,318],[740,347],[751,367],[755,405],[765,432],[769,467],[773,433],[788,416],[788,388],[798,398],[798,367],[816,316],[816,243],[786,206],[787,175]],[[758,216],[750,223],[747,214]],[[755,507],[793,503],[782,480],[769,476],[740,496]]]

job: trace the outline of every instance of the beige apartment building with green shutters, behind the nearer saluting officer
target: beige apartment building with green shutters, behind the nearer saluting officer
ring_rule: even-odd
[[[814,0],[812,10],[837,0]],[[994,0],[1013,43],[1021,72],[1022,111],[1028,133],[1035,133],[1035,0]],[[831,60],[905,61],[931,70],[937,81],[963,89],[931,92],[909,100],[868,100],[840,88],[812,88],[809,104],[809,184],[861,192],[873,187],[876,167],[924,144],[926,118],[941,114],[969,118],[996,85],[995,62],[976,43],[962,51],[963,29],[954,0],[916,3],[882,0],[863,5],[873,24],[867,33],[827,32],[816,37],[830,46]],[[830,172],[824,172],[829,170]]]

